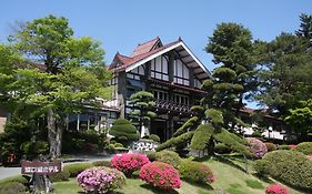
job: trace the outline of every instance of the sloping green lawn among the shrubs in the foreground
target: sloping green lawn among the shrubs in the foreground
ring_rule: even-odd
[[[252,169],[250,173],[243,172],[243,159],[236,156],[213,157],[202,160],[208,164],[214,173],[215,182],[209,185],[198,185],[182,182],[181,188],[171,192],[172,194],[263,194],[265,187],[273,180],[262,181],[253,176]],[[251,165],[249,161],[249,166]],[[68,182],[54,183],[56,193],[58,194],[77,194],[83,193],[74,178]],[[300,194],[301,192],[290,188],[291,194]],[[122,190],[113,192],[113,194],[162,194],[164,192],[157,191],[143,181],[138,178],[127,180],[127,185]],[[168,192],[165,192],[168,193]]]

